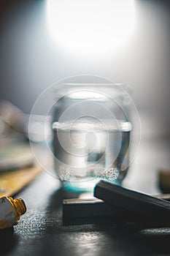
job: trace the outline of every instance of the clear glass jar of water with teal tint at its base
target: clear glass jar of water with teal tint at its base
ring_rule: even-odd
[[[98,180],[121,183],[128,171],[128,94],[117,83],[59,83],[53,106],[55,172],[74,191]]]

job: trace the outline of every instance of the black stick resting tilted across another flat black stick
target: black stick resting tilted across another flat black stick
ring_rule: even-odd
[[[98,182],[94,196],[112,206],[139,214],[152,222],[170,224],[170,202],[167,200],[125,189],[107,181]]]

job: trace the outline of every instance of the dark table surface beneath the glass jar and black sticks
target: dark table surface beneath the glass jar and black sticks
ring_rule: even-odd
[[[169,142],[142,142],[124,186],[160,193],[159,167],[169,167]],[[77,195],[59,188],[57,179],[42,172],[16,195],[26,201],[27,212],[17,226],[1,230],[0,255],[170,255],[170,227],[144,227],[105,218],[64,223],[62,199]]]

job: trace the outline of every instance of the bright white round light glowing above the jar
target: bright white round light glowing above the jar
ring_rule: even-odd
[[[50,34],[77,55],[108,53],[134,29],[134,0],[48,0]]]

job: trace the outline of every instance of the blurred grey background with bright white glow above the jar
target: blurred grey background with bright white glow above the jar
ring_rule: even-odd
[[[1,99],[30,113],[56,81],[99,75],[131,87],[142,135],[169,136],[169,1],[1,0],[0,26]]]

